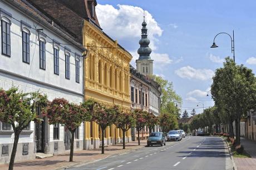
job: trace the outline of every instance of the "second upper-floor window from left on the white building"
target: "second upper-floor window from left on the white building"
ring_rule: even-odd
[[[29,64],[29,34],[22,31],[22,61]]]

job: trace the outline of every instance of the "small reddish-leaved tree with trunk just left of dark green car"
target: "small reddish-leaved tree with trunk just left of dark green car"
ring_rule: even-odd
[[[140,131],[143,127],[146,126],[146,115],[147,112],[142,111],[141,109],[135,109],[134,112],[132,112],[133,116],[135,117],[135,128],[138,132],[138,144],[140,145]]]

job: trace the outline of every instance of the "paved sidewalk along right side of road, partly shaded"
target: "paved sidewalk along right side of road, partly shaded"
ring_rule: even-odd
[[[241,137],[241,144],[244,146],[244,150],[249,153],[252,158],[234,158],[238,170],[256,169],[256,141]]]

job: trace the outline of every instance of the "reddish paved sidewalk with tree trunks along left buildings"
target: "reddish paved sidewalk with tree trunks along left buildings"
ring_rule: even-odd
[[[43,169],[43,170],[52,170],[58,169],[61,167],[69,167],[75,164],[84,164],[96,161],[98,159],[104,159],[113,154],[121,154],[125,152],[129,152],[134,149],[139,149],[146,146],[146,141],[140,141],[140,146],[138,146],[137,141],[126,143],[126,149],[122,149],[122,143],[116,144],[115,146],[105,147],[105,154],[101,154],[101,148],[93,149],[93,150],[83,150],[77,151],[74,153],[73,160],[74,162],[68,162],[69,153],[61,154],[58,156],[53,156],[50,158],[44,159],[33,159],[30,161],[22,161],[14,163],[14,170],[35,170],[35,169]],[[1,164],[1,170],[7,170],[9,164]]]

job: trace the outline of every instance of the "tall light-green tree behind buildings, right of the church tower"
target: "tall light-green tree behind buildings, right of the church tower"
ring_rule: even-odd
[[[153,76],[153,78],[161,87],[161,113],[174,114],[179,118],[182,98],[174,91],[173,83],[160,76]]]

